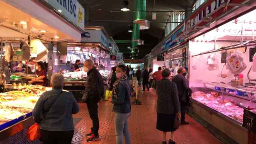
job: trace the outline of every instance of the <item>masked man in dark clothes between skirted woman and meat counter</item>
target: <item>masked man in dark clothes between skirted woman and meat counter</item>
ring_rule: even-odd
[[[178,88],[179,100],[180,100],[180,111],[181,111],[181,124],[189,124],[189,122],[185,121],[185,113],[186,113],[186,93],[188,92],[188,86],[186,83],[186,69],[179,68],[178,74],[172,78],[172,81],[176,83]]]

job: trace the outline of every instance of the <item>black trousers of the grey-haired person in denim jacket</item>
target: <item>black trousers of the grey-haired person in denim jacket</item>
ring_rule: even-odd
[[[71,144],[74,130],[70,131],[48,131],[41,129],[41,141],[43,144]]]

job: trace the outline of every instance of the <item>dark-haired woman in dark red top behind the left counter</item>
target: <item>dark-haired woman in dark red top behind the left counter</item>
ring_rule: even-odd
[[[30,84],[33,85],[41,85],[46,86],[47,83],[47,76],[46,71],[44,68],[43,62],[36,62],[36,78],[33,78],[31,81],[29,81]]]

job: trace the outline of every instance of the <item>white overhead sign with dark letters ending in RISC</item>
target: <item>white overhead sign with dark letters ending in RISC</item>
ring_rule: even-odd
[[[77,0],[44,0],[68,20],[84,30],[84,8]]]

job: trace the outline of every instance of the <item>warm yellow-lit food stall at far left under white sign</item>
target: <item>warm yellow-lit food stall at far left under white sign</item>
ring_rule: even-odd
[[[0,86],[8,91],[0,93],[0,144],[29,143],[25,132],[34,124],[34,105],[43,92],[51,90],[39,85],[28,86],[28,80],[35,78],[29,73],[35,71],[35,62],[43,61],[50,79],[54,44],[80,42],[84,8],[78,2],[74,6],[78,9],[70,14],[56,1],[0,0]],[[16,62],[18,68],[14,70]],[[11,71],[8,72],[8,68]],[[6,84],[6,78],[14,80],[9,82],[14,84]]]

